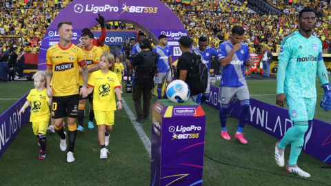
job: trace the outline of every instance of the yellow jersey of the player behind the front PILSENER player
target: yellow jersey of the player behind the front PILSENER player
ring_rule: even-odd
[[[102,55],[102,50],[94,46],[90,50],[86,50],[85,47],[81,48],[85,54],[85,63],[88,65],[88,68],[92,67],[95,65],[95,63],[100,63],[101,55]],[[88,78],[90,78],[92,72],[88,73]],[[83,86],[84,81],[83,81],[83,75],[79,74],[79,86]]]

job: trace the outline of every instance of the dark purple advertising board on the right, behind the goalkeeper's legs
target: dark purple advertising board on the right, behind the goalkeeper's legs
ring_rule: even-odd
[[[219,110],[218,97],[219,87],[210,86],[210,98],[205,103]],[[239,118],[240,110],[240,101],[234,97],[230,103],[228,114]],[[325,114],[329,113],[325,112]],[[288,110],[252,98],[250,99],[250,116],[247,123],[278,139],[283,138],[286,131],[293,126]],[[302,150],[331,165],[331,124],[318,119],[310,121]]]

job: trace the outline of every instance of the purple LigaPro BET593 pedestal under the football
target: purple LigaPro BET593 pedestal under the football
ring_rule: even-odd
[[[161,100],[152,107],[152,186],[202,185],[205,112],[186,102],[192,105]]]

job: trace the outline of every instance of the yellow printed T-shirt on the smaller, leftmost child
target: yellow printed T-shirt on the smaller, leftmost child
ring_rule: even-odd
[[[37,88],[32,89],[26,99],[31,101],[32,105],[30,122],[49,121],[50,106],[48,101],[50,99],[46,94],[46,88],[41,91],[38,91]]]

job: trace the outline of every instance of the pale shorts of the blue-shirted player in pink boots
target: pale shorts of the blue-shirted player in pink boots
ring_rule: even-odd
[[[250,92],[247,85],[241,87],[219,87],[219,103],[229,104],[234,94],[237,94],[239,100],[250,99]]]

